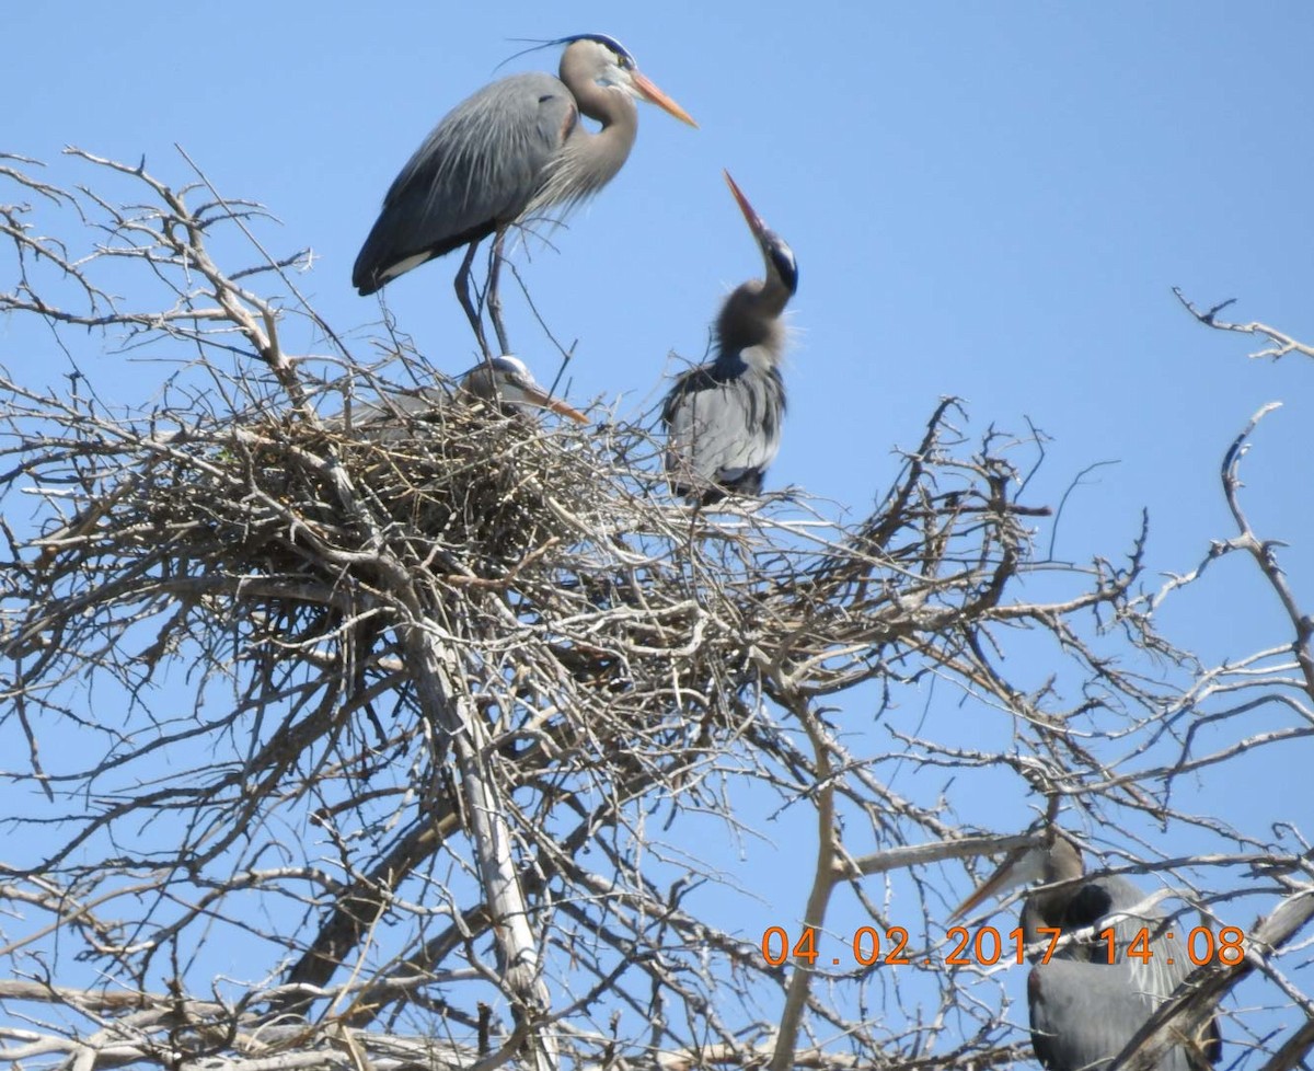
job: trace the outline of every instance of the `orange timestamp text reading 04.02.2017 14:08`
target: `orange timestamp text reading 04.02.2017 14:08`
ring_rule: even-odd
[[[1033,945],[1026,944],[1026,936],[1021,926],[1000,933],[995,926],[979,926],[975,930],[967,926],[950,926],[947,940],[955,942],[945,955],[943,962],[951,967],[966,967],[979,965],[991,967],[1005,958],[1005,954],[1016,963],[1025,963],[1033,957],[1037,963],[1049,963],[1050,957],[1058,949],[1063,937],[1060,926],[1037,926],[1042,940],[1049,941],[1042,946],[1039,941]],[[1127,934],[1118,934],[1113,926],[1100,930],[1096,942],[1102,942],[1109,963],[1121,959],[1135,959],[1144,965],[1154,959],[1163,959],[1172,965],[1172,951],[1163,946],[1152,947],[1150,929],[1142,926],[1135,930],[1130,940]],[[1164,934],[1173,938],[1172,930]],[[908,953],[908,930],[903,926],[887,926],[880,930],[875,926],[859,926],[850,942],[853,962],[859,967],[874,967],[878,965],[891,967],[907,967],[913,963],[932,963],[925,955],[915,957]],[[1185,941],[1185,955],[1196,967],[1212,963],[1215,959],[1223,966],[1233,967],[1246,958],[1246,934],[1239,926],[1223,926],[1215,937],[1209,926],[1194,926]],[[813,926],[804,926],[798,938],[791,938],[784,926],[767,926],[762,933],[762,958],[773,967],[779,967],[788,959],[796,959],[815,967],[817,961],[824,962],[824,957],[817,949],[817,933]],[[840,957],[833,957],[830,963],[840,966]]]

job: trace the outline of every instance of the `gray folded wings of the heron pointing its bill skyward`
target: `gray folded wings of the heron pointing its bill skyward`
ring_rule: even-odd
[[[686,372],[666,398],[666,468],[735,486],[763,472],[781,449],[781,380],[774,373],[723,380],[712,369]]]

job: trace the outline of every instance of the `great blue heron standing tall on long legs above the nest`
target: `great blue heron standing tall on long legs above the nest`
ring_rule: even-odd
[[[352,285],[371,294],[426,260],[468,246],[456,294],[485,356],[491,353],[469,285],[480,242],[495,235],[487,304],[506,352],[497,280],[507,229],[547,208],[568,210],[611,181],[635,143],[636,97],[696,126],[639,72],[615,38],[591,33],[549,43],[566,46],[560,79],[541,72],[503,78],[434,127],[393,180],[351,272]],[[602,129],[585,130],[581,113]]]

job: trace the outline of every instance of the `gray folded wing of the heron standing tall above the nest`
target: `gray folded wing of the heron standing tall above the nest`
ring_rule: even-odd
[[[389,188],[352,284],[371,293],[510,223],[533,198],[577,121],[570,91],[541,72],[501,79],[461,101]]]

